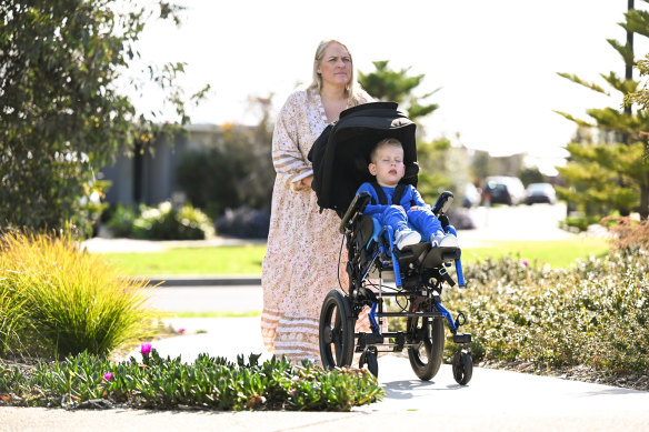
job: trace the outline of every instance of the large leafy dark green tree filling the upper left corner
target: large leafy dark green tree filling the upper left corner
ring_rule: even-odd
[[[149,64],[140,69],[146,79],[122,78],[129,68],[136,72],[146,23],[156,17],[179,23],[181,8],[116,3],[0,3],[0,228],[57,229],[78,219],[80,199],[96,188],[93,172],[120,145],[146,144],[188,122],[176,86],[182,63]],[[163,89],[177,121],[158,124],[156,113],[136,111],[124,87],[137,89],[141,80]]]

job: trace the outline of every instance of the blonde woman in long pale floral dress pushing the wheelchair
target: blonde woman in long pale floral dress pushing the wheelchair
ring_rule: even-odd
[[[307,154],[341,111],[371,100],[356,83],[347,47],[326,40],[316,50],[313,82],[289,96],[276,122],[272,161],[277,178],[261,275],[261,334],[271,353],[296,364],[302,359],[320,362],[320,308],[327,293],[339,287],[336,269],[341,245],[340,219],[331,210],[320,213],[317,205]],[[343,257],[343,287],[345,262]]]

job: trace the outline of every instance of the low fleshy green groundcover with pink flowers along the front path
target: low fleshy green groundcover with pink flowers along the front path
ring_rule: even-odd
[[[41,363],[30,378],[16,369],[0,372],[0,394],[9,404],[27,406],[172,410],[180,406],[218,411],[349,411],[380,400],[385,391],[366,370],[324,371],[308,361],[293,366],[286,358],[259,363],[259,355],[234,364],[207,354],[194,363],[162,359],[153,349],[110,363],[82,353],[62,362]],[[0,370],[2,370],[0,369]],[[1,403],[1,401],[0,401]]]

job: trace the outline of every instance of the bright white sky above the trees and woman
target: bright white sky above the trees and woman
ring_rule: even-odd
[[[526,153],[552,174],[562,164],[576,124],[553,112],[588,119],[590,108],[619,107],[621,97],[596,93],[557,72],[607,87],[600,73],[623,76],[607,39],[626,41],[627,0],[183,0],[180,28],[153,22],[139,44],[143,60],[187,63],[187,93],[211,86],[190,109],[192,123],[254,124],[251,97],[272,94],[273,112],[300,82],[311,80],[320,40],[350,50],[355,70],[392,69],[426,78],[418,96],[440,89],[422,120],[427,139],[492,155]],[[636,8],[647,9],[636,0]],[[636,57],[649,44],[636,36]],[[637,73],[637,72],[636,72]],[[141,98],[142,109],[156,98]]]

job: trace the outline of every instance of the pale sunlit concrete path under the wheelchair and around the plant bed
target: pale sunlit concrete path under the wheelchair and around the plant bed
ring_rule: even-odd
[[[259,317],[176,319],[169,323],[184,328],[187,334],[154,341],[162,355],[180,354],[192,361],[198,353],[208,352],[236,360],[239,353],[263,352]],[[408,359],[397,355],[379,359],[379,382],[387,391],[385,400],[350,413],[2,408],[0,431],[649,430],[649,392],[481,368],[475,369],[469,385],[460,386],[449,365],[442,365],[430,382],[421,382]]]

